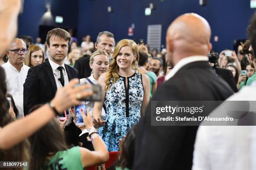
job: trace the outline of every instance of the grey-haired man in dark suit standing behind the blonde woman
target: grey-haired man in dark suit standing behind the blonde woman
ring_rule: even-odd
[[[95,43],[96,50],[106,51],[106,53],[111,56],[114,47],[115,39],[112,33],[103,31],[98,34],[97,42]],[[89,62],[90,56],[88,57],[88,55],[84,55],[75,62],[74,68],[78,70],[80,79],[87,78],[91,75],[92,69],[89,66]]]

